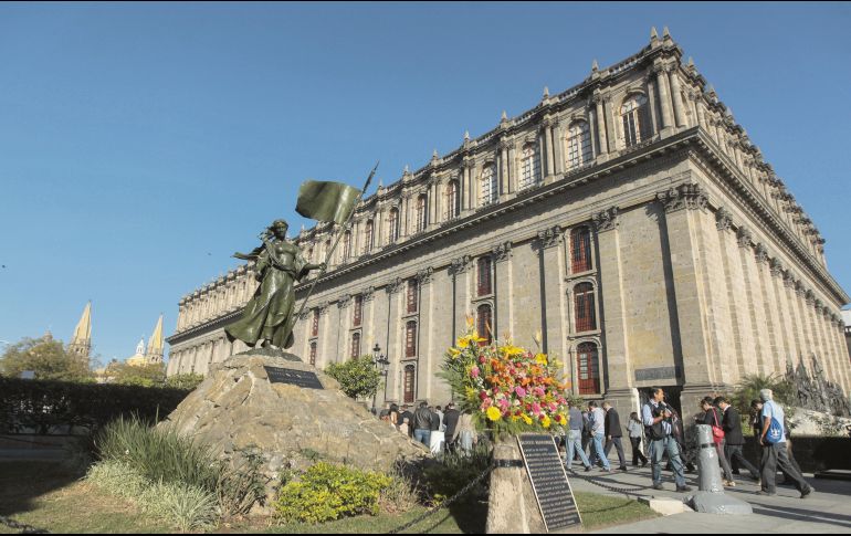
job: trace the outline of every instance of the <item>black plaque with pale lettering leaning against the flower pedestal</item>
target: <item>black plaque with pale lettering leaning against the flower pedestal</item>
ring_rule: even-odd
[[[547,530],[578,528],[582,519],[554,438],[544,433],[524,433],[517,442]]]

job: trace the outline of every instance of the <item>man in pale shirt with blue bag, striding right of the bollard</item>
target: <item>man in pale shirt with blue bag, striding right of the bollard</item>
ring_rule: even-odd
[[[809,496],[815,488],[803,480],[789,461],[786,453],[786,424],[784,423],[784,410],[775,403],[771,389],[759,391],[763,400],[763,431],[759,435],[759,444],[763,445],[763,485],[757,495],[777,494],[777,467],[782,470],[786,479],[800,492],[800,498]]]

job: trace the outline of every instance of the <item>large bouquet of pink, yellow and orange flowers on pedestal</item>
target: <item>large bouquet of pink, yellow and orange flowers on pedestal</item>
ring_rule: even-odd
[[[560,364],[511,340],[484,343],[467,319],[466,333],[446,350],[441,366],[441,377],[461,393],[459,406],[473,413],[477,427],[516,434],[566,425]]]

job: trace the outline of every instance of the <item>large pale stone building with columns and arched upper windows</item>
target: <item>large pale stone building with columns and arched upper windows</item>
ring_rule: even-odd
[[[535,108],[379,188],[357,209],[292,350],[322,368],[377,344],[390,360],[387,400],[445,403],[443,354],[467,316],[490,315],[495,336],[522,346],[542,330],[571,389],[621,411],[658,385],[692,412],[745,375],[813,358],[848,393],[849,296],[827,270],[824,241],[681,56],[668,32],[653,32],[638,54],[595,63],[578,86],[545,92]],[[313,262],[330,231],[298,235]],[[255,287],[242,266],[182,298],[168,374],[203,374],[243,350],[222,327]]]

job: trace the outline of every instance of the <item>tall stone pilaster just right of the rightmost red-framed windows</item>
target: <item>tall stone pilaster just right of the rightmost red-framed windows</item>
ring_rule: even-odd
[[[598,212],[591,218],[597,237],[597,259],[600,260],[598,271],[600,287],[600,328],[605,334],[606,347],[600,357],[606,356],[606,379],[608,387],[620,391],[634,385],[634,372],[629,355],[629,326],[627,325],[627,307],[624,304],[626,288],[623,287],[623,260],[621,258],[620,216],[617,207]],[[602,261],[605,259],[605,261]],[[595,260],[595,263],[598,261]],[[575,356],[574,356],[575,357]],[[602,359],[601,359],[602,361]],[[576,359],[571,359],[571,369],[576,368]],[[602,368],[602,367],[600,367]],[[576,379],[576,374],[574,379]],[[606,389],[605,386],[600,386]],[[576,389],[574,392],[578,392]]]

